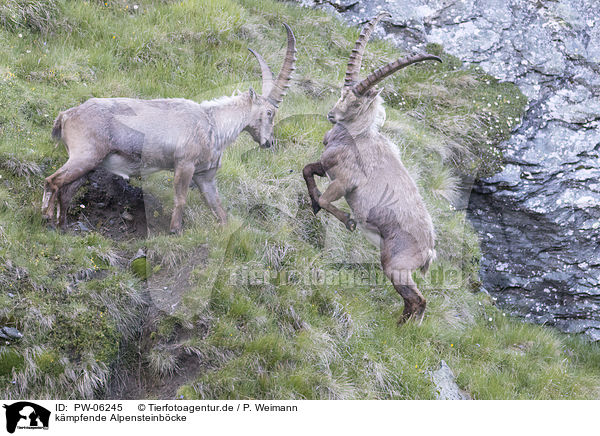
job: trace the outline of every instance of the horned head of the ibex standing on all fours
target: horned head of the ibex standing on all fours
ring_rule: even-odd
[[[287,31],[288,47],[283,61],[281,71],[277,80],[273,79],[271,69],[263,57],[252,49],[250,52],[256,56],[262,71],[262,95],[250,88],[250,99],[252,100],[251,121],[246,131],[261,147],[269,148],[273,145],[273,127],[275,124],[275,113],[279,103],[283,100],[285,91],[290,86],[292,72],[296,69],[296,39],[290,26],[283,24]]]

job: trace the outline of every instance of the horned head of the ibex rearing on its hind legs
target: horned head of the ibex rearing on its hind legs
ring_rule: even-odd
[[[379,13],[379,15],[365,25],[360,36],[356,40],[356,44],[354,45],[354,49],[348,60],[348,68],[346,70],[346,79],[344,81],[344,87],[342,88],[342,95],[333,109],[327,114],[327,119],[333,124],[350,124],[355,121],[360,121],[361,124],[365,124],[365,127],[372,125],[377,117],[381,115],[378,110],[382,101],[381,97],[379,97],[381,91],[378,90],[375,85],[396,71],[414,64],[415,62],[426,60],[442,62],[439,57],[430,54],[397,59],[373,71],[364,80],[359,82],[358,77],[365,47],[373,33],[373,29],[384,17],[390,17],[390,14],[387,12]]]

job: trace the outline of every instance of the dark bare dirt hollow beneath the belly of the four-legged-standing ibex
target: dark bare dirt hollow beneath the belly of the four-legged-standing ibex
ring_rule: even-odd
[[[122,177],[96,169],[82,191],[69,208],[68,229],[72,232],[95,230],[117,241],[145,238],[148,216],[153,228],[168,229],[169,217],[163,214],[161,203]]]

